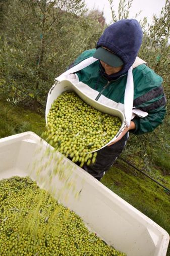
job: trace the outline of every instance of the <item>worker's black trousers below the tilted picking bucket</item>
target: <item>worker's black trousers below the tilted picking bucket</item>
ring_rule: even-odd
[[[96,162],[91,165],[84,164],[83,169],[100,181],[105,172],[112,166],[117,157],[122,153],[128,138],[129,133],[127,133],[117,143],[98,150]]]

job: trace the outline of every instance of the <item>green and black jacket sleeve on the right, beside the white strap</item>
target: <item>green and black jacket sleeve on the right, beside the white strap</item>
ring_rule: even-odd
[[[136,129],[131,132],[134,134],[150,133],[162,123],[166,113],[163,79],[144,64],[134,69],[134,77],[138,97],[134,99],[133,106],[147,112],[148,115],[144,118],[135,116],[133,121]]]

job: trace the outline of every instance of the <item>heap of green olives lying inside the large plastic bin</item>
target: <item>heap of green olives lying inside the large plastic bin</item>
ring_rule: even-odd
[[[0,181],[0,255],[125,256],[30,178]]]

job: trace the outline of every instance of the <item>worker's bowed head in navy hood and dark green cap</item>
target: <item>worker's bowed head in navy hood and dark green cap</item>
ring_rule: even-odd
[[[93,57],[100,60],[107,75],[124,74],[134,63],[142,43],[137,20],[123,19],[108,26],[97,41]]]

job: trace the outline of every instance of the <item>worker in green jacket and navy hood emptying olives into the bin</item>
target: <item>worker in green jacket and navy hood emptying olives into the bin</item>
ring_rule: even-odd
[[[142,28],[135,19],[123,19],[108,26],[97,41],[96,49],[83,52],[70,66],[93,57],[94,63],[75,72],[80,82],[97,93],[96,100],[104,96],[114,102],[122,111],[124,108],[125,88],[128,70],[133,68],[133,110],[145,113],[133,115],[130,124],[121,136],[110,145],[97,151],[96,162],[84,164],[89,174],[97,180],[112,166],[122,153],[129,137],[129,132],[140,135],[152,132],[165,115],[166,98],[162,88],[162,78],[150,69],[146,62],[137,57],[142,44]],[[102,97],[101,97],[102,96]]]

